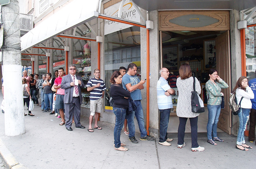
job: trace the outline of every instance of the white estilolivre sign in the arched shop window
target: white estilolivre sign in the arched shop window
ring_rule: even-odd
[[[109,16],[118,17],[120,3],[121,2],[116,3],[116,4],[106,8],[104,10],[104,14],[109,15]],[[124,4],[123,9],[122,9],[121,18],[130,20],[130,21],[134,21],[134,22],[140,22],[140,15],[130,0],[126,1]],[[132,25],[125,24],[125,23],[105,20],[104,35],[108,35],[110,33],[117,32],[117,31],[126,29],[131,26]]]

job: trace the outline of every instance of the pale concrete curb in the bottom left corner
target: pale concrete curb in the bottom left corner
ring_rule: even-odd
[[[9,169],[28,169],[26,166],[20,164],[11,151],[5,146],[0,138],[0,156],[6,168]]]

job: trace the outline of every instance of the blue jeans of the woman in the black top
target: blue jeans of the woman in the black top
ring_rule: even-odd
[[[116,116],[116,124],[114,128],[114,144],[115,148],[121,146],[120,134],[125,123],[126,109],[113,107],[113,113]]]

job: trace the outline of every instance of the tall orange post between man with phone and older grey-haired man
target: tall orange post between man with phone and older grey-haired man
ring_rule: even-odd
[[[147,29],[147,121],[146,121],[146,129],[147,129],[147,135],[149,135],[149,105],[150,105],[150,99],[149,99],[149,88],[150,88],[150,43],[149,43],[149,30]]]

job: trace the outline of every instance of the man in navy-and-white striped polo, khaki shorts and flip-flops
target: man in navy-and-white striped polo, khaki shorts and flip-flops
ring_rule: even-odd
[[[99,113],[102,113],[102,101],[103,96],[106,90],[105,83],[102,79],[100,79],[100,70],[95,69],[94,70],[94,78],[91,78],[87,82],[87,91],[90,91],[90,117],[89,117],[89,132],[93,132],[93,128],[91,127],[91,124],[93,123],[93,117],[94,118],[94,128],[101,130],[102,128],[98,126],[98,118]]]

